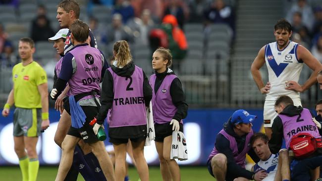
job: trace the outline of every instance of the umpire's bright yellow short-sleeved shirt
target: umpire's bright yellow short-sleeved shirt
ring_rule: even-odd
[[[16,64],[12,69],[14,105],[20,108],[41,108],[38,86],[47,83],[45,70],[35,61],[23,66]]]

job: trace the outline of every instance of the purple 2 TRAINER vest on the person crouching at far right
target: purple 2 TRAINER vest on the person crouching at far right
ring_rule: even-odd
[[[282,120],[286,148],[289,148],[291,138],[299,133],[309,133],[315,138],[321,138],[318,127],[312,121],[312,115],[308,109],[303,108],[300,115],[292,117],[283,114],[278,116]]]

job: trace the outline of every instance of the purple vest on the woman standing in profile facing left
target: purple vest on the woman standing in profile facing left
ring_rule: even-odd
[[[163,79],[160,88],[155,93],[156,74],[151,75],[150,85],[152,87],[152,109],[153,109],[153,120],[155,123],[163,124],[170,122],[177,112],[177,108],[173,105],[172,97],[170,95],[170,86],[172,81],[177,76],[170,74],[166,75]],[[182,123],[182,120],[180,120]]]

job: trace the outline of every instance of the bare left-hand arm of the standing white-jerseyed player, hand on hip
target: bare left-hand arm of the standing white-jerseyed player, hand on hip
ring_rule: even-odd
[[[253,79],[258,87],[258,89],[261,91],[261,93],[268,93],[270,89],[270,84],[267,83],[264,86],[264,82],[262,80],[262,75],[260,72],[260,69],[265,64],[265,47],[263,46],[260,51],[258,52],[257,56],[255,57],[252,66],[251,66],[251,72]]]

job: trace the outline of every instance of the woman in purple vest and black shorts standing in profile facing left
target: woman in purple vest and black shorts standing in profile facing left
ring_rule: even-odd
[[[153,90],[152,108],[156,132],[156,148],[160,159],[163,181],[180,181],[177,162],[170,158],[172,132],[183,132],[182,119],[187,116],[188,105],[179,78],[169,68],[172,55],[169,49],[159,47],[152,56],[155,74],[150,77]]]

